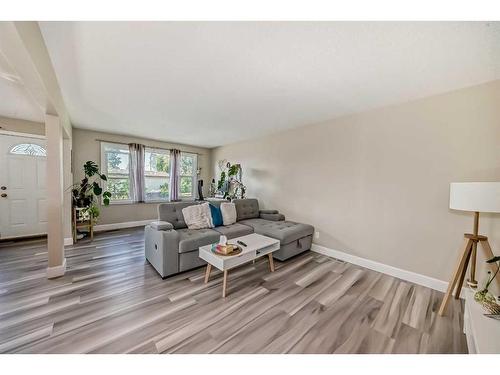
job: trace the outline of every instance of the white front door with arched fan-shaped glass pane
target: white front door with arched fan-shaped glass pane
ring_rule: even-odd
[[[46,142],[0,134],[0,239],[47,233]]]

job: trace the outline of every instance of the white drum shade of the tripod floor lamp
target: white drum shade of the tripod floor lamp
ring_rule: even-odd
[[[460,211],[500,212],[500,182],[452,182],[450,208]]]

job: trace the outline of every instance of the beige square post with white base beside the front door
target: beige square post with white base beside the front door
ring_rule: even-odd
[[[63,127],[59,117],[45,115],[47,137],[47,192],[48,192],[48,258],[47,277],[64,275],[64,170],[63,170]]]

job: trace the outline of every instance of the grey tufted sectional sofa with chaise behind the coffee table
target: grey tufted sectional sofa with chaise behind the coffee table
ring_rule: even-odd
[[[274,258],[284,261],[311,248],[314,228],[308,224],[286,221],[276,210],[260,210],[257,199],[236,199],[237,221],[212,229],[188,229],[182,209],[200,202],[170,202],[158,205],[158,222],[145,228],[146,259],[162,277],[205,265],[198,257],[200,246],[258,233],[280,240]],[[220,204],[220,202],[210,202]]]

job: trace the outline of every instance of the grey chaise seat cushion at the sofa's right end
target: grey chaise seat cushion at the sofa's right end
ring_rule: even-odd
[[[280,240],[281,244],[288,244],[299,238],[310,236],[314,232],[312,225],[296,223],[294,221],[249,219],[242,220],[239,223],[252,227],[257,234]]]

